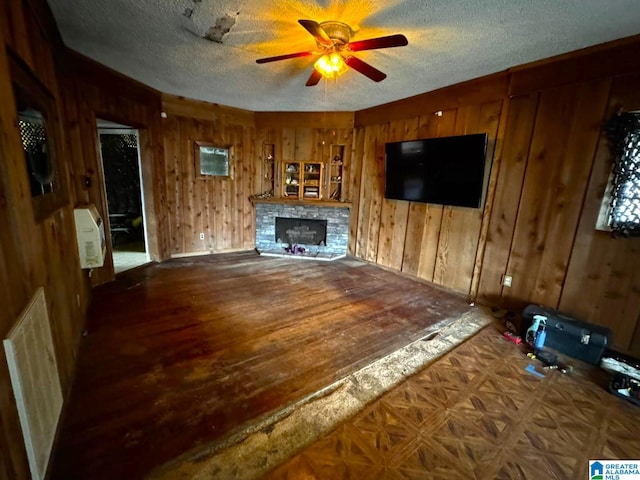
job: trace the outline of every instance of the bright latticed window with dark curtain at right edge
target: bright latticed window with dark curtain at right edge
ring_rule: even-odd
[[[640,236],[640,112],[621,113],[605,126],[613,165],[597,228]]]

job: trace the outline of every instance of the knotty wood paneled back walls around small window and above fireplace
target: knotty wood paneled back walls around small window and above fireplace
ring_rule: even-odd
[[[170,95],[162,98],[167,115],[163,129],[172,255],[254,248],[250,197],[272,188],[279,195],[281,162],[328,162],[329,146],[341,144],[349,163],[352,113],[253,113]],[[196,141],[233,147],[232,179],[196,175]],[[273,181],[266,158],[270,148],[276,162]],[[343,194],[348,195],[346,187]]]

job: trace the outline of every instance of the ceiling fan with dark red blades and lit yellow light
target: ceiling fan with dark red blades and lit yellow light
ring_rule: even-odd
[[[316,39],[318,51],[288,53],[275,57],[259,58],[256,60],[256,63],[277,62],[290,58],[320,55],[314,64],[311,76],[305,84],[307,87],[317,85],[323,76],[331,78],[342,75],[348,70],[347,67],[353,68],[374,82],[380,82],[387,78],[387,75],[360,60],[358,57],[354,57],[351,55],[351,52],[403,47],[409,43],[407,37],[400,34],[352,42],[351,37],[355,32],[346,23],[336,21],[318,23],[313,20],[298,20],[298,23]]]

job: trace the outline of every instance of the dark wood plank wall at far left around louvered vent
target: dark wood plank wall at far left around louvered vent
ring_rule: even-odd
[[[5,338],[40,286],[44,287],[60,380],[68,391],[90,287],[80,269],[73,189],[62,208],[35,220],[8,69],[8,52],[23,61],[56,101],[64,120],[55,66],[61,42],[46,3],[0,0],[0,337]],[[6,47],[6,48],[5,48]],[[57,137],[61,158],[68,155]],[[68,176],[68,165],[62,164]],[[0,479],[30,478],[5,353],[0,346]]]

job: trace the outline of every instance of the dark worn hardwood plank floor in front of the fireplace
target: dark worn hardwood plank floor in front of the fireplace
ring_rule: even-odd
[[[245,252],[124,272],[94,292],[51,478],[141,478],[468,309],[351,259]]]

